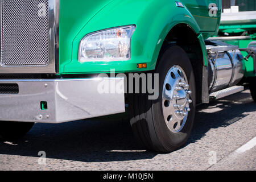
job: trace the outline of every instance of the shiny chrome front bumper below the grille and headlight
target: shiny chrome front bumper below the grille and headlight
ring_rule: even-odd
[[[0,121],[61,123],[125,112],[124,86],[118,93],[100,93],[102,81],[124,84],[123,78],[0,80],[19,86],[17,94],[0,92]]]

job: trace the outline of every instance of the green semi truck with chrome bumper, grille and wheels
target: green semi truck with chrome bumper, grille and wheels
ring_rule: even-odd
[[[142,147],[171,152],[187,141],[196,105],[244,84],[256,101],[254,43],[246,45],[254,36],[228,36],[226,28],[217,36],[220,0],[0,0],[0,7],[3,139],[34,123],[128,110]]]

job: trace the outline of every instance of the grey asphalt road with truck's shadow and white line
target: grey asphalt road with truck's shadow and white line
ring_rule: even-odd
[[[187,144],[170,154],[142,150],[123,116],[38,123],[0,142],[0,170],[255,170],[255,137],[256,104],[245,90],[198,106]]]

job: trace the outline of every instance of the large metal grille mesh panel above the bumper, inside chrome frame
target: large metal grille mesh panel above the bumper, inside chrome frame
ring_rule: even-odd
[[[2,0],[1,64],[49,63],[48,0]]]

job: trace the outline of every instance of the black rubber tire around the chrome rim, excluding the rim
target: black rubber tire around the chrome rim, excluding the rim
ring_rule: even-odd
[[[143,148],[159,152],[172,152],[187,142],[193,127],[196,104],[196,84],[191,62],[187,53],[179,46],[166,49],[159,56],[154,73],[159,73],[159,97],[148,100],[148,94],[129,94],[130,124],[135,138]],[[173,133],[163,117],[162,92],[165,77],[173,65],[183,68],[192,91],[187,121],[179,133]]]

